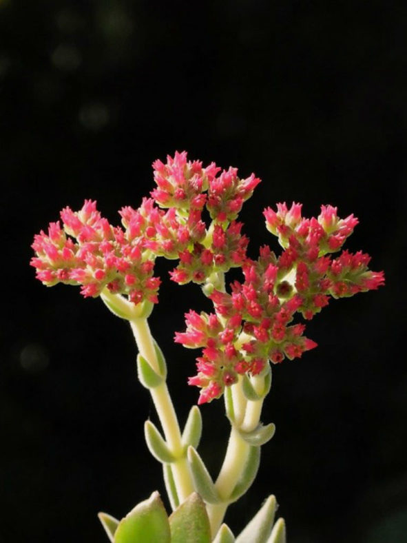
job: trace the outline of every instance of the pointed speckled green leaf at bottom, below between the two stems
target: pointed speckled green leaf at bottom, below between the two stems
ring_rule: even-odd
[[[193,492],[169,517],[171,543],[211,543],[211,525],[205,503]]]

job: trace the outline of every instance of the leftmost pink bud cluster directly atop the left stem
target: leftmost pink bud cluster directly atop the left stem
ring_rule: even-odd
[[[36,277],[49,287],[81,285],[85,297],[98,296],[107,287],[114,294],[127,294],[134,303],[155,303],[160,279],[153,276],[154,257],[143,243],[151,204],[144,200],[131,223],[124,219],[128,208],[123,208],[125,229],[109,225],[96,202],[85,200],[79,212],[65,207],[62,228],[59,222],[50,223],[48,234],[41,231],[34,236],[36,256],[31,265]]]

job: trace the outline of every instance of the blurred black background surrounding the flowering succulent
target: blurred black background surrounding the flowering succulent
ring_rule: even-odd
[[[152,189],[152,161],[184,149],[263,179],[242,212],[253,254],[277,249],[265,205],[331,203],[360,219],[348,249],[386,272],[315,317],[315,351],[275,367],[263,420],[277,432],[227,522],[238,533],[272,492],[289,543],[407,541],[406,17],[388,1],[0,0],[1,542],[104,542],[98,511],[164,493],[126,323],[45,289],[28,261],[62,207],[96,198],[118,223]],[[172,337],[207,305],[159,267],[151,326],[184,421],[194,352]],[[216,475],[222,402],[202,413]]]

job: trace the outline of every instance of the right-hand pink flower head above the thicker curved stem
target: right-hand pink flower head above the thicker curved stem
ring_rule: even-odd
[[[268,360],[300,358],[317,344],[303,336],[303,322],[311,319],[331,298],[352,296],[384,284],[383,272],[368,269],[370,257],[342,252],[332,259],[353,232],[353,215],[338,218],[337,209],[322,206],[318,218],[302,218],[301,205],[267,208],[267,227],[284,247],[279,257],[267,246],[258,260],[242,263],[244,280],[230,285],[230,293],[213,291],[215,313],[186,316],[187,331],[176,334],[185,347],[202,347],[198,373],[189,379],[201,387],[198,403],[218,398],[239,374],[257,375]]]

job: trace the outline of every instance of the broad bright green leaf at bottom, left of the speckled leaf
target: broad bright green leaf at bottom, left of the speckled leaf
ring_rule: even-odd
[[[158,492],[140,502],[119,522],[114,543],[170,543],[167,512]]]

